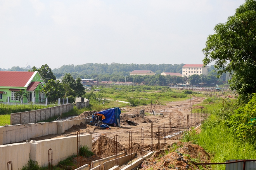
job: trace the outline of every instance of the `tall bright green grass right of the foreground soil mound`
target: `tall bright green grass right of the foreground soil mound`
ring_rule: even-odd
[[[255,145],[238,141],[228,132],[224,124],[203,129],[196,143],[213,155],[211,162],[225,162],[230,159],[256,159]],[[214,165],[213,169],[224,170],[225,165]]]

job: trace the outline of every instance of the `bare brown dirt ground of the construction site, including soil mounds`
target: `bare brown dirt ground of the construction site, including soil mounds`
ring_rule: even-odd
[[[48,138],[59,138],[64,136],[76,135],[77,131],[80,131],[81,134],[92,134],[93,136],[93,153],[98,155],[98,135],[103,136],[102,142],[102,157],[107,157],[114,155],[114,136],[118,135],[119,142],[119,153],[126,152],[129,153],[129,132],[131,131],[132,138],[132,150],[137,153],[139,158],[142,155],[142,128],[143,128],[143,148],[144,155],[149,151],[156,151],[154,155],[146,159],[140,167],[142,170],[146,169],[165,169],[165,168],[176,168],[176,169],[199,169],[195,166],[193,162],[209,162],[209,155],[198,145],[193,145],[191,143],[180,143],[177,137],[175,138],[166,138],[164,140],[164,129],[165,135],[175,133],[177,131],[177,122],[180,119],[181,127],[184,125],[184,117],[187,118],[187,115],[190,115],[190,105],[200,104],[204,100],[203,97],[193,97],[191,100],[184,100],[180,102],[168,102],[166,105],[145,105],[139,107],[123,107],[121,109],[120,122],[121,127],[110,127],[110,129],[104,129],[97,126],[91,126],[88,124],[80,124],[79,126],[73,126],[71,129],[65,131],[61,135],[48,135],[39,138],[36,140],[48,139]],[[201,106],[195,106],[193,109],[201,109]],[[138,116],[139,111],[144,109],[145,112],[151,113],[150,110],[154,109],[155,116],[153,114],[145,117]],[[80,116],[74,117],[72,119],[81,119],[85,118],[88,115],[94,113],[94,111],[84,112]],[[157,115],[157,114],[163,115]],[[127,115],[135,114],[133,118],[128,118]],[[171,128],[170,128],[170,120]],[[126,121],[134,122],[135,125],[129,125]],[[151,125],[153,124],[153,148],[151,148]],[[197,123],[198,124],[198,123]],[[185,122],[187,125],[187,122]],[[165,126],[165,128],[163,128]],[[183,129],[181,129],[183,131]],[[160,132],[160,133],[159,133]],[[160,139],[160,149],[159,151],[159,135]],[[177,143],[177,144],[176,144]],[[171,151],[173,144],[179,145],[180,148],[174,151]],[[170,151],[166,155],[166,151]],[[159,158],[159,155],[164,155]],[[76,158],[74,158],[75,160]],[[90,160],[92,159],[92,160]],[[88,160],[83,160],[83,162],[89,163],[95,159],[90,158]],[[205,167],[204,167],[205,168]]]

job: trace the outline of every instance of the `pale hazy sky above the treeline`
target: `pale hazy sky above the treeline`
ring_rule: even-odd
[[[202,64],[244,0],[0,0],[0,68]],[[214,63],[212,63],[214,64]]]

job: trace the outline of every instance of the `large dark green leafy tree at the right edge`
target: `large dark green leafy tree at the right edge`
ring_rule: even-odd
[[[246,0],[214,31],[202,50],[204,65],[214,61],[219,75],[230,73],[230,88],[246,99],[256,92],[256,1]]]

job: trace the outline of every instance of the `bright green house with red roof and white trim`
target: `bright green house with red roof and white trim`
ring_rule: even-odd
[[[0,102],[44,102],[40,90],[45,85],[38,71],[0,71]],[[17,93],[23,93],[18,95]]]

